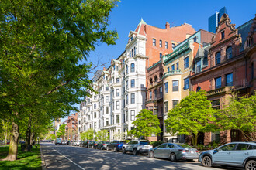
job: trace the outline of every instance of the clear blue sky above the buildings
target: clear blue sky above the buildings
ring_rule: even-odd
[[[119,39],[115,46],[99,43],[95,51],[88,56],[88,62],[95,65],[109,66],[111,59],[116,59],[126,47],[128,33],[136,29],[140,19],[151,26],[164,29],[165,22],[171,26],[189,23],[197,31],[208,31],[208,18],[224,6],[236,27],[253,19],[256,14],[256,1],[246,0],[205,0],[205,1],[172,1],[172,0],[123,0],[112,10],[109,17],[109,29],[116,29]],[[102,63],[102,64],[98,64]],[[98,69],[102,69],[99,66]],[[90,74],[92,77],[92,74]],[[78,105],[79,107],[79,105]],[[64,119],[63,119],[64,120]]]

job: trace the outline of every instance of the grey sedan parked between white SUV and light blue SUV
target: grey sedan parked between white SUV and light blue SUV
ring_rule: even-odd
[[[171,162],[177,160],[192,160],[199,158],[199,151],[186,144],[164,143],[148,152],[150,158],[169,158]]]

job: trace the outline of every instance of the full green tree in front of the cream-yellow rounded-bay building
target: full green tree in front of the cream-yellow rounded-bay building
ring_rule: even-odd
[[[206,92],[190,92],[189,96],[168,113],[165,128],[171,134],[185,134],[192,137],[192,145],[197,145],[199,132],[216,131],[213,121],[215,110],[207,100]]]

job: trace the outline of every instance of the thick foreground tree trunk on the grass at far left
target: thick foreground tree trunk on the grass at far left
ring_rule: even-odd
[[[12,122],[12,131],[10,135],[10,146],[8,156],[2,161],[15,161],[18,155],[18,141],[19,141],[19,124]]]

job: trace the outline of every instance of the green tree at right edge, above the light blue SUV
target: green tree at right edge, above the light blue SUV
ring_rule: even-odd
[[[256,92],[256,91],[255,91]],[[216,121],[222,131],[239,130],[247,141],[256,141],[256,95],[237,97],[232,93]]]

